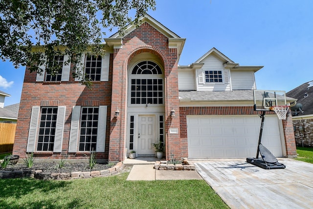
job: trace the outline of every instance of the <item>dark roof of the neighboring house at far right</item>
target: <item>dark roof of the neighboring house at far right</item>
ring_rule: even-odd
[[[297,98],[297,103],[302,104],[304,113],[299,113],[298,116],[313,114],[313,81],[304,83],[290,92],[286,93],[287,96]]]

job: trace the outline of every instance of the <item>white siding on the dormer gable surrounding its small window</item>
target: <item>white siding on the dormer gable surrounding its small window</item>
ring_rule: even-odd
[[[199,77],[197,78],[197,91],[230,91],[230,84],[228,78],[228,70],[224,69],[224,63],[214,55],[209,55],[204,58],[201,63],[204,63],[200,71],[202,70],[222,70],[223,72],[223,83],[203,83],[200,82]],[[196,75],[199,76],[199,70],[197,70]],[[226,77],[225,77],[226,76]]]

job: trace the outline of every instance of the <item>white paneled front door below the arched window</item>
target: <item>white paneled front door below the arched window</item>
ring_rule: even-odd
[[[156,118],[154,115],[139,116],[138,155],[154,155],[152,143],[156,141]]]

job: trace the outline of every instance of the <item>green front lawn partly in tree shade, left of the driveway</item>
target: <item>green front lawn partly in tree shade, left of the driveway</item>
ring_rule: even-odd
[[[0,179],[0,209],[228,208],[203,180],[126,181],[128,174],[70,181]]]

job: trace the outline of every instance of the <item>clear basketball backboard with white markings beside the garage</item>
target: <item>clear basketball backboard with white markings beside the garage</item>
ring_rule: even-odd
[[[271,111],[272,106],[288,105],[285,91],[253,90],[254,110]]]

